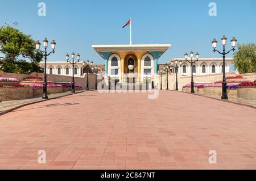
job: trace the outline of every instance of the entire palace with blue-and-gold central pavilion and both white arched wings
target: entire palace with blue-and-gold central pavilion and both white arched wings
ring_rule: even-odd
[[[98,54],[104,59],[102,65],[84,65],[82,61],[77,62],[74,68],[75,77],[83,77],[87,71],[93,73],[92,68],[101,70],[105,76],[118,78],[120,82],[143,82],[145,77],[158,75],[160,69],[166,64],[158,64],[158,59],[171,47],[171,44],[146,44],[146,45],[92,45]],[[167,62],[182,61],[178,73],[181,76],[191,76],[191,64],[185,62],[184,58],[173,58]],[[226,72],[234,72],[232,58],[226,58]],[[39,64],[43,69],[44,62]],[[222,73],[222,58],[199,58],[193,64],[193,75],[208,75]],[[104,70],[104,71],[103,71]],[[172,73],[175,73],[172,68]],[[72,65],[67,61],[47,62],[46,73],[56,75],[72,76]],[[131,80],[130,80],[131,79]]]

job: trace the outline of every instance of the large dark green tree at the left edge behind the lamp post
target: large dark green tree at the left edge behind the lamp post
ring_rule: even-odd
[[[43,53],[36,51],[35,40],[30,35],[6,24],[0,27],[0,45],[0,52],[5,55],[0,62],[2,71],[23,74],[43,72],[39,67]]]

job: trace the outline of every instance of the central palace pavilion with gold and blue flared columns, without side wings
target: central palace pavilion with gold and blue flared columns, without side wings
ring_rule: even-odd
[[[105,75],[120,82],[142,82],[158,73],[158,59],[171,44],[92,45],[105,61]]]

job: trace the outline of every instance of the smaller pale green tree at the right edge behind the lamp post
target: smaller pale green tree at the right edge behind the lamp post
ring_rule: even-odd
[[[239,73],[256,72],[256,44],[238,44],[238,51],[234,53],[233,58]]]

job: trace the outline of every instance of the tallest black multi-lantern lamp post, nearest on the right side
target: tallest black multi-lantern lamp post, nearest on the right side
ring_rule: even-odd
[[[228,52],[226,52],[226,50],[225,50],[226,40],[227,40],[227,38],[225,36],[223,36],[222,39],[221,39],[221,43],[222,43],[222,46],[223,46],[222,52],[219,52],[218,50],[216,50],[218,41],[216,39],[213,39],[213,41],[212,41],[213,52],[214,53],[218,52],[218,53],[222,54],[222,57],[223,57],[223,65],[222,65],[223,79],[222,79],[222,96],[221,96],[221,99],[228,99],[228,94],[226,92],[225,57],[226,57],[226,54],[228,54],[230,51],[234,52],[234,50],[236,50],[235,47],[236,47],[236,43],[237,43],[236,38],[233,37],[233,39],[231,40],[232,49],[230,49]]]

